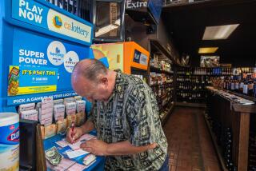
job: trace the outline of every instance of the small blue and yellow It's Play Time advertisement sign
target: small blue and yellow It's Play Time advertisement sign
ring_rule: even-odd
[[[8,96],[54,92],[57,82],[56,68],[10,66]]]

